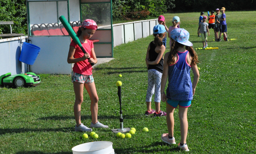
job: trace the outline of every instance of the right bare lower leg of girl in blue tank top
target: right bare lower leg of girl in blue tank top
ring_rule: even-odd
[[[187,134],[188,134],[188,119],[187,119],[188,108],[179,107],[179,119],[180,119],[180,135],[181,135],[181,144],[186,143]]]

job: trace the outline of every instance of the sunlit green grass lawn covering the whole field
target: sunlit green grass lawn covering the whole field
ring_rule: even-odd
[[[188,109],[187,144],[191,154],[256,153],[256,12],[226,12],[228,42],[214,42],[210,29],[208,45],[218,50],[198,50],[200,79]],[[190,32],[194,48],[203,47],[197,37],[199,13],[164,14],[171,26],[173,16]],[[222,37],[223,38],[223,37]],[[167,145],[166,117],[146,117],[146,49],[152,36],[114,48],[114,60],[94,71],[99,96],[98,119],[109,129],[93,128],[98,139],[82,139],[75,132],[74,91],[70,75],[41,74],[33,88],[0,88],[0,154],[72,154],[72,147],[91,141],[112,141],[117,154],[184,153]],[[169,42],[169,40],[167,40]],[[169,43],[167,43],[168,45]],[[167,46],[166,52],[170,50]],[[67,53],[66,53],[67,54]],[[118,77],[122,74],[123,77]],[[192,75],[193,73],[191,73]],[[116,82],[122,81],[124,127],[134,127],[131,139],[117,138],[111,129],[120,128]],[[166,104],[161,103],[165,111]],[[154,105],[152,105],[154,109]],[[178,109],[174,136],[180,141]],[[90,98],[85,92],[82,122],[91,122]],[[142,129],[149,128],[144,133]]]

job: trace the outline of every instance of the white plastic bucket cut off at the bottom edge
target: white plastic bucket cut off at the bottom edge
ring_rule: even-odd
[[[72,148],[73,154],[114,154],[111,141],[94,141]]]

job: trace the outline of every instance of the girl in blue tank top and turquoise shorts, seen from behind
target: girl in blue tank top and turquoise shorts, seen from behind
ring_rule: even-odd
[[[161,139],[168,144],[176,144],[173,137],[173,113],[174,109],[179,105],[181,141],[178,144],[178,148],[184,151],[189,151],[186,144],[188,133],[187,111],[191,105],[191,100],[199,80],[197,53],[192,48],[193,44],[189,41],[189,36],[189,32],[183,28],[171,31],[173,43],[171,51],[164,55],[164,71],[161,82],[161,99],[163,102],[166,102],[166,121],[168,127],[168,133],[163,134]],[[194,73],[193,83],[191,83],[190,79],[190,69]],[[165,95],[164,88],[167,78],[169,83]]]

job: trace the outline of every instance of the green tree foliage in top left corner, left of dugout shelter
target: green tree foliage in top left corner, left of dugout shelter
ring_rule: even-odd
[[[0,21],[13,21],[13,33],[27,34],[26,0],[0,0]],[[0,25],[0,33],[10,32],[9,25]]]

